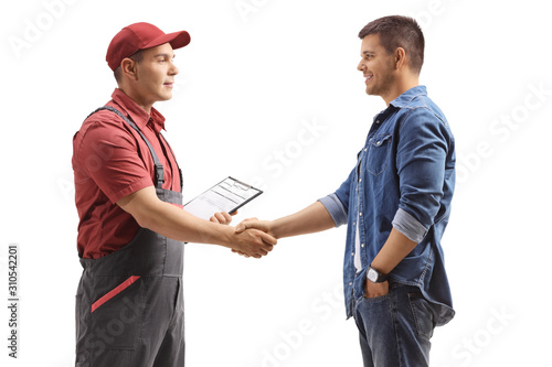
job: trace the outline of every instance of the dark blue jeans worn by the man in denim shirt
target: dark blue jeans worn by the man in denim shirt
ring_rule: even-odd
[[[429,366],[436,307],[417,287],[391,283],[385,295],[357,298],[354,320],[364,367]]]

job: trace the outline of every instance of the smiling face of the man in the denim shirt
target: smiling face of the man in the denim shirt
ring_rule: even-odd
[[[388,54],[385,48],[380,44],[378,34],[369,34],[362,39],[360,50],[361,61],[357,69],[362,72],[365,78],[367,94],[371,96],[380,96],[388,104],[396,85],[395,80],[395,57],[393,54]]]

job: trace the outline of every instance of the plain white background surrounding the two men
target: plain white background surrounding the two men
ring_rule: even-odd
[[[74,365],[81,267],[72,136],[110,97],[105,52],[123,26],[147,21],[190,32],[191,44],[177,51],[174,96],[156,107],[184,171],[184,198],[226,175],[265,190],[238,223],[294,213],[347,177],[385,107],[364,94],[357,34],[400,13],[423,25],[421,82],[457,140],[443,239],[457,316],[436,330],[432,366],[550,365],[552,28],[544,3],[2,2],[0,293],[7,304],[8,245],[19,244],[21,306],[17,360],[8,357],[1,307],[0,364]],[[283,239],[261,260],[188,245],[187,366],[361,366],[340,291],[344,230]]]

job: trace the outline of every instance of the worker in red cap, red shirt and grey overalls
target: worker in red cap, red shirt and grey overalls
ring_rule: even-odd
[[[173,50],[185,31],[124,28],[107,50],[118,88],[73,138],[77,249],[76,366],[184,366],[184,241],[259,258],[276,244],[235,234],[227,213],[211,222],[182,209],[182,173],[152,106],[172,97]]]

